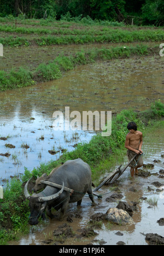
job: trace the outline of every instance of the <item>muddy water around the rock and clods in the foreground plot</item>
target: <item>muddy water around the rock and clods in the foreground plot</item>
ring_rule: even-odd
[[[163,178],[159,178],[159,171],[164,167],[163,165],[163,143],[151,143],[154,154],[150,155],[150,146],[144,146],[144,164],[154,164],[154,168],[148,169],[151,172],[151,176],[144,177],[130,177],[130,169],[127,168],[126,172],[122,174],[118,182],[111,186],[103,186],[97,194],[102,194],[102,199],[95,201],[97,205],[91,206],[91,201],[88,196],[85,196],[81,206],[77,207],[76,204],[71,204],[67,210],[66,216],[62,222],[57,218],[53,220],[46,220],[45,223],[33,226],[30,229],[30,233],[27,236],[21,238],[19,242],[10,242],[10,245],[116,245],[119,241],[124,242],[126,245],[147,245],[144,234],[157,233],[164,236],[163,226],[157,223],[157,220],[163,218],[164,199],[162,193],[156,192],[156,187],[151,183],[158,181],[164,185]],[[149,156],[148,156],[149,155]],[[154,160],[159,160],[156,163]],[[125,163],[127,160],[125,159]],[[119,165],[120,163],[118,163]],[[153,175],[155,174],[155,175]],[[148,190],[148,186],[151,187],[151,191]],[[131,189],[133,188],[133,191]],[[79,237],[81,229],[86,228],[89,225],[91,216],[95,213],[106,213],[109,208],[116,207],[119,200],[116,202],[107,202],[107,197],[110,197],[114,193],[121,193],[124,197],[121,201],[126,201],[130,205],[133,202],[138,203],[138,210],[133,214],[133,225],[112,225],[105,221],[102,221],[101,228],[92,228],[97,233],[91,237]],[[146,197],[146,200],[141,198]],[[151,202],[156,202],[155,205],[151,205]],[[68,222],[68,218],[72,219],[72,223]],[[61,226],[67,224],[73,229],[73,238],[57,238],[54,236],[55,230],[61,230]],[[116,233],[120,231],[121,236]]]

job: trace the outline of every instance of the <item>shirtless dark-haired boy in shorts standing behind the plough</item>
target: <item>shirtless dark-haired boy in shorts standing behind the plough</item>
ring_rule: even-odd
[[[134,122],[130,122],[127,125],[127,129],[130,131],[127,136],[126,136],[126,141],[125,141],[125,148],[127,148],[127,157],[128,160],[130,161],[135,154],[138,154],[136,156],[136,162],[133,160],[130,164],[131,167],[131,177],[134,176],[134,171],[135,174],[138,174],[138,168],[143,166],[143,159],[140,154],[143,153],[142,151],[142,132],[137,131],[137,125]]]

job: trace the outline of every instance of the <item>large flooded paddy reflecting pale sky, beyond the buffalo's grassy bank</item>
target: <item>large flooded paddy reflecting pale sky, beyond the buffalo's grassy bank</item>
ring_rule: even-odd
[[[93,63],[67,72],[61,79],[0,93],[0,185],[10,176],[56,160],[62,149],[89,141],[92,131],[54,131],[52,114],[77,110],[144,110],[164,99],[163,58],[135,57]],[[12,144],[15,148],[7,148]],[[26,149],[24,146],[28,146]],[[56,154],[51,155],[49,150]]]

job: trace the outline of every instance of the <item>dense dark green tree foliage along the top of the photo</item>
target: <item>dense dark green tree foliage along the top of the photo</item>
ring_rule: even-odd
[[[124,21],[138,25],[164,24],[163,0],[0,0],[0,16],[21,18],[61,19],[73,16],[79,19]]]

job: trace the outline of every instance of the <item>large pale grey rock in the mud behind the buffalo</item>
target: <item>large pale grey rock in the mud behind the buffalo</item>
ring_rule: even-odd
[[[134,224],[132,217],[126,211],[118,208],[109,208],[106,212],[106,220],[122,226]]]

